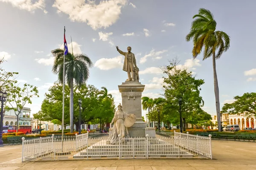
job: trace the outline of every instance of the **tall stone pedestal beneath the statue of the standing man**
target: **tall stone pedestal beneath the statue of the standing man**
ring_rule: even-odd
[[[146,127],[146,122],[143,122],[142,119],[141,94],[145,85],[140,82],[128,81],[123,82],[118,88],[122,94],[122,110],[125,113],[136,115],[136,122],[133,126],[128,127],[129,135],[143,137],[148,134],[151,137],[155,137],[155,128]]]

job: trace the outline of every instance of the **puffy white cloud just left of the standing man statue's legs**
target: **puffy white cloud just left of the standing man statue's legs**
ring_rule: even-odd
[[[94,67],[99,68],[100,70],[111,70],[113,68],[122,68],[124,57],[117,56],[114,58],[101,58],[97,60],[94,64]]]

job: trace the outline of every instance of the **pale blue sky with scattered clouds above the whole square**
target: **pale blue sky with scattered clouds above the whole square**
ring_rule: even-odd
[[[201,96],[204,110],[215,114],[212,59],[192,59],[192,42],[186,42],[193,15],[209,9],[217,29],[230,36],[230,49],[218,59],[217,75],[221,107],[233,96],[253,92],[256,87],[255,42],[256,2],[254,0],[0,0],[0,57],[6,71],[17,71],[20,83],[38,87],[32,113],[40,110],[44,94],[57,76],[52,74],[50,51],[73,40],[74,52],[87,54],[95,64],[88,83],[105,86],[115,102],[121,102],[117,85],[127,78],[122,71],[123,57],[116,51],[127,46],[140,68],[144,96],[158,97],[164,74],[160,68],[178,57],[180,64],[204,79]],[[71,50],[69,46],[69,50]],[[145,115],[145,111],[143,111]]]

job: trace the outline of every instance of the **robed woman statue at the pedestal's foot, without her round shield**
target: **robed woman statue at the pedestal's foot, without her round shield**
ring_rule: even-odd
[[[122,111],[121,103],[117,106],[117,111],[114,114],[114,117],[111,121],[111,124],[114,123],[113,131],[111,133],[111,144],[116,143],[116,139],[118,139],[118,135],[121,135],[121,138],[128,137],[128,129],[125,127],[125,118],[129,116],[129,114]]]

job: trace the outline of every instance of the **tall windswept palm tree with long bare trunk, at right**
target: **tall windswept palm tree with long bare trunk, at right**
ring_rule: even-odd
[[[191,24],[190,32],[186,35],[186,41],[193,40],[192,54],[194,59],[201,53],[203,48],[203,60],[212,56],[218,130],[221,131],[219,89],[215,60],[219,59],[221,54],[230,47],[230,37],[223,31],[215,31],[217,23],[209,10],[200,8],[198,14],[194,15],[194,18],[195,20]]]

